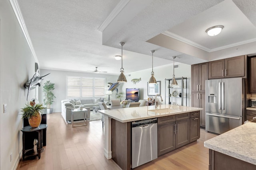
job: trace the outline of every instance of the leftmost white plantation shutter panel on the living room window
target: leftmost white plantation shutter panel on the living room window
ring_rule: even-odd
[[[80,97],[81,79],[68,77],[68,98]]]

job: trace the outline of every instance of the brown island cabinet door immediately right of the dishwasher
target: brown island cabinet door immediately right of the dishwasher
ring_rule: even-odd
[[[158,125],[158,156],[175,149],[175,122]]]

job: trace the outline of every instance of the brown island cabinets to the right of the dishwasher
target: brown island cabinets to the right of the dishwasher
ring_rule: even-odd
[[[199,113],[200,111],[196,111],[158,118],[158,156],[162,156],[200,138],[200,126],[199,124],[195,126],[194,123],[196,121],[199,123]],[[190,125],[190,116],[194,118],[192,126]]]

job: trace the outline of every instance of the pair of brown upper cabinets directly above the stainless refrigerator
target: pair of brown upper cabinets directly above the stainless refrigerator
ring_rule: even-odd
[[[208,62],[208,78],[228,78],[246,76],[246,56],[237,56]]]

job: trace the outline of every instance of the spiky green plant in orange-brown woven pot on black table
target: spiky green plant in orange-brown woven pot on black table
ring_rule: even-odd
[[[36,102],[30,101],[30,104],[22,108],[22,118],[28,119],[28,123],[32,128],[36,128],[40,125],[42,120],[43,104],[36,104]]]

